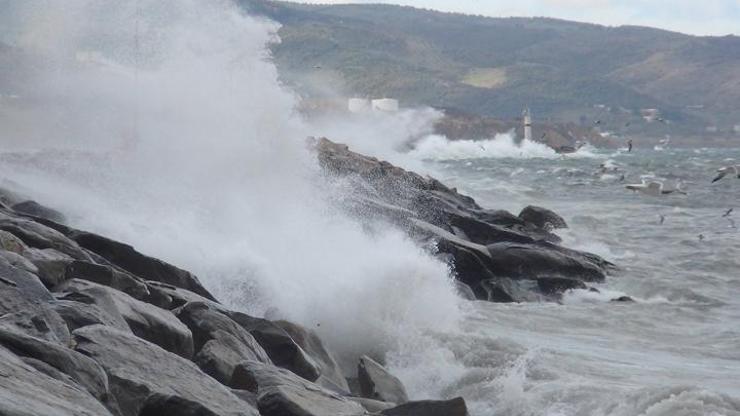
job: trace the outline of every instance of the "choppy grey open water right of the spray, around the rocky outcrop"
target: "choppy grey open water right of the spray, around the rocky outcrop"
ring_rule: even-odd
[[[740,233],[721,217],[740,207],[740,180],[710,184],[740,150],[530,154],[425,156],[483,206],[556,210],[570,224],[566,245],[622,271],[601,294],[563,304],[475,302],[460,333],[442,337],[455,355],[444,394],[464,395],[480,416],[740,414]],[[596,173],[602,163],[619,171]],[[624,189],[641,175],[682,181],[689,195]],[[621,294],[637,302],[609,302]]]

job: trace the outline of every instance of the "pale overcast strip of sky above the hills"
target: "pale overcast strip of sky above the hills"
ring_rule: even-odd
[[[695,35],[740,35],[740,0],[302,0],[390,3],[487,16],[548,16],[641,25]]]

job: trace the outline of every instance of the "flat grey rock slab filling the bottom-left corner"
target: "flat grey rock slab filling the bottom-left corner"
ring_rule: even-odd
[[[82,388],[49,377],[0,347],[0,415],[112,416]]]

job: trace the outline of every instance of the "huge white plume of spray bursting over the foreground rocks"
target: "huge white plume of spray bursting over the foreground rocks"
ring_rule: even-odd
[[[330,202],[313,132],[264,59],[272,23],[229,1],[5,7],[24,16],[12,42],[38,67],[12,140],[42,150],[2,173],[73,226],[192,270],[230,306],[317,330],[348,371],[454,327],[447,266]]]

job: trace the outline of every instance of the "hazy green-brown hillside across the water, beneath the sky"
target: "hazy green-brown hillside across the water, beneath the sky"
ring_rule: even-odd
[[[631,134],[728,131],[740,124],[740,38],[548,18],[489,18],[392,5],[241,0],[282,24],[281,77],[321,95],[598,123]],[[328,81],[328,82],[327,82]],[[647,125],[640,109],[665,123]]]

